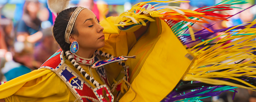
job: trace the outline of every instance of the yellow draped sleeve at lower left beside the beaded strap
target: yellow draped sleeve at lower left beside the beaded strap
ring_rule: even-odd
[[[0,85],[6,102],[74,102],[67,85],[51,70],[39,69]]]

